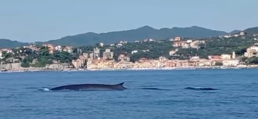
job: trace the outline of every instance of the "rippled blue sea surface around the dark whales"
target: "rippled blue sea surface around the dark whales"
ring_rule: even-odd
[[[127,90],[48,91],[121,82]],[[0,73],[0,84],[0,118],[258,118],[258,69]]]

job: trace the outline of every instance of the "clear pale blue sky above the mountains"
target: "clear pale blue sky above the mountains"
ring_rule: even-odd
[[[257,6],[256,0],[3,0],[0,39],[48,41],[146,25],[231,32],[258,27]]]

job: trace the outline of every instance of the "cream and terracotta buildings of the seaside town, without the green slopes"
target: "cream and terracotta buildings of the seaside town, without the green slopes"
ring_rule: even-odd
[[[254,34],[253,36],[258,36]],[[234,35],[223,36],[225,38],[245,36],[244,32]],[[173,47],[181,48],[199,48],[200,44],[205,44],[205,41],[202,40],[182,40],[182,37],[175,37],[170,39],[173,42]],[[257,39],[254,39],[257,40]],[[146,39],[144,41],[135,41],[134,43],[141,42],[155,42],[152,39]],[[120,47],[127,42],[121,41],[120,43],[110,44],[110,46]],[[52,44],[43,45],[49,48],[49,53],[53,54],[56,51],[65,51],[73,53],[73,49],[70,46],[54,46]],[[99,43],[100,47],[104,46],[104,43]],[[39,49],[35,45],[24,46],[24,48],[30,48],[33,51],[38,51]],[[8,53],[13,53],[11,49],[0,49],[0,56],[6,51]],[[148,51],[148,50],[146,50]],[[114,53],[111,49],[105,49],[103,56],[100,55],[100,48],[96,47],[91,53],[83,53],[81,49],[77,49],[79,58],[72,61],[72,64],[75,69],[88,69],[88,70],[97,70],[97,69],[140,69],[140,68],[181,68],[181,67],[208,67],[208,66],[226,66],[226,67],[240,67],[244,66],[244,62],[240,62],[240,58],[236,57],[235,52],[232,54],[222,54],[222,55],[211,55],[208,56],[208,59],[201,59],[198,56],[191,57],[188,60],[169,60],[166,57],[159,57],[158,59],[147,59],[141,58],[139,61],[130,62],[129,54],[137,53],[138,50],[134,50],[131,53],[123,53],[118,56],[117,61],[113,59]],[[174,56],[177,53],[177,50],[171,50],[167,52],[169,56]],[[246,49],[244,57],[253,57],[258,54],[258,43],[253,44],[253,46]],[[0,57],[1,59],[3,57]]]

